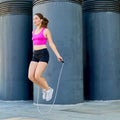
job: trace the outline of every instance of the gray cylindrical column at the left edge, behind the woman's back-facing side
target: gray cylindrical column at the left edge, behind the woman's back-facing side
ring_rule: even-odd
[[[0,1],[0,99],[31,99],[31,0]]]

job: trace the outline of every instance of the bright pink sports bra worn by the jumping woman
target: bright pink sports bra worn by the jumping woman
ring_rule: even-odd
[[[44,30],[45,28],[42,28],[42,30],[38,34],[34,34],[32,32],[33,45],[46,45],[47,38],[43,35]]]

